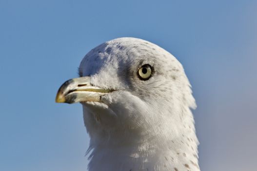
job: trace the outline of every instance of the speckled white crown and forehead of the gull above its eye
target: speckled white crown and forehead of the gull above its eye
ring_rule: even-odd
[[[121,66],[169,64],[176,60],[156,44],[135,38],[119,38],[92,49],[81,61],[83,75],[93,75],[100,70]]]

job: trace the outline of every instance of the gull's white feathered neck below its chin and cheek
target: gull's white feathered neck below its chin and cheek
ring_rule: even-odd
[[[199,171],[198,139],[190,109],[173,107],[165,112],[162,108],[163,113],[158,113],[155,108],[152,113],[159,117],[131,128],[122,128],[124,123],[107,114],[98,121],[94,113],[101,110],[85,112],[92,150],[89,171]]]

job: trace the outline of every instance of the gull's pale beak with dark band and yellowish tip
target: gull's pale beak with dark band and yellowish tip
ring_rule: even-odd
[[[90,84],[90,77],[74,78],[63,83],[56,95],[57,103],[101,102],[101,96],[114,90]]]

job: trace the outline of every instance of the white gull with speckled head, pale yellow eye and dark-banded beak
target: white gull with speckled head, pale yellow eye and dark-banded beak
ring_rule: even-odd
[[[89,171],[200,171],[191,85],[154,43],[118,38],[95,47],[56,102],[82,104]]]

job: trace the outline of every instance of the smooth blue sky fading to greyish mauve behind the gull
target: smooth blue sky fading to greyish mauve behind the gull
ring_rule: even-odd
[[[256,171],[256,0],[0,0],[0,171],[85,171],[80,104],[56,104],[83,56],[118,37],[184,65],[202,171]]]

